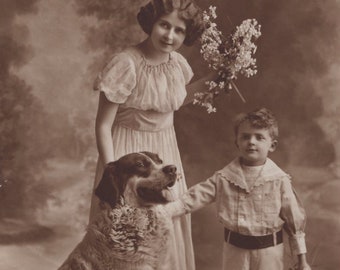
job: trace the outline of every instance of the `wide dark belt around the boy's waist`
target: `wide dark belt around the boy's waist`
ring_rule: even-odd
[[[282,230],[268,235],[251,236],[232,232],[225,228],[224,239],[229,244],[244,249],[267,248],[283,242]]]

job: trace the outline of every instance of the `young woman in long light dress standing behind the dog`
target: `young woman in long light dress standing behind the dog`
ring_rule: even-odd
[[[137,19],[148,37],[116,54],[96,81],[100,96],[95,186],[108,162],[127,153],[150,151],[177,166],[180,180],[171,188],[176,199],[187,186],[173,125],[174,111],[193,90],[201,91],[208,79],[187,85],[193,72],[176,50],[199,38],[202,12],[192,0],[154,0],[141,8]],[[93,197],[90,220],[96,212],[96,200]],[[171,265],[165,263],[164,269],[195,269],[189,216],[174,220],[172,240]]]

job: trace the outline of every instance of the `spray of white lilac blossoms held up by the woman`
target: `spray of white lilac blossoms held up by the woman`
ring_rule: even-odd
[[[255,19],[247,19],[225,38],[214,22],[216,17],[214,6],[203,12],[206,29],[200,39],[200,53],[219,77],[216,81],[207,81],[208,90],[196,93],[193,102],[205,107],[208,113],[216,112],[214,99],[222,91],[228,93],[234,89],[245,102],[234,81],[239,74],[249,78],[257,73],[254,41],[261,36],[261,25]]]

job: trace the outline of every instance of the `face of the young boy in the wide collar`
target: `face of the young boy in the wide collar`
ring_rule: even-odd
[[[268,129],[252,127],[248,121],[239,126],[236,146],[244,165],[263,165],[268,153],[273,152],[276,145],[277,141],[271,138]]]

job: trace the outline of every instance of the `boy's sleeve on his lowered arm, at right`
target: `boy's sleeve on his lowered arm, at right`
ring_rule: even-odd
[[[288,178],[282,184],[282,209],[280,216],[285,221],[284,229],[289,235],[289,245],[293,255],[306,253],[304,232],[306,212]]]

